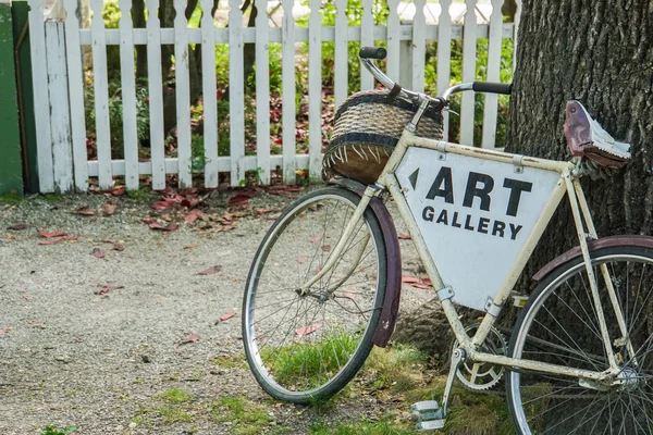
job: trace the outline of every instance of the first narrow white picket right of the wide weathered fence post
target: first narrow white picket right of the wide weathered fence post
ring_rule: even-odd
[[[88,190],[88,156],[86,152],[86,120],[84,114],[84,70],[79,46],[77,1],[65,0],[65,51],[67,61],[71,135],[73,140],[73,171],[75,188]]]

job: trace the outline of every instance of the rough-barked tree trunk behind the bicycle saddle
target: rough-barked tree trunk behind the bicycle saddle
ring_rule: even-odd
[[[582,179],[599,236],[653,227],[653,7],[649,0],[528,0],[519,26],[507,150],[568,159],[565,102],[577,99],[632,161],[608,179]],[[565,200],[566,202],[566,200]],[[565,203],[567,206],[567,203]],[[523,277],[578,245],[568,207],[549,225]]]

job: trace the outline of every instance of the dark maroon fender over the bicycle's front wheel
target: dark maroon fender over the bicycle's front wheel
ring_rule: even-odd
[[[331,179],[330,183],[345,187],[361,197],[366,189],[364,184],[348,178]],[[381,314],[379,316],[379,324],[372,336],[372,343],[375,346],[385,347],[394,331],[397,312],[399,311],[399,299],[402,296],[402,253],[397,231],[383,201],[379,198],[372,198],[370,208],[381,225],[383,241],[385,243],[385,254],[387,257],[385,298],[383,299],[383,308],[381,309]]]

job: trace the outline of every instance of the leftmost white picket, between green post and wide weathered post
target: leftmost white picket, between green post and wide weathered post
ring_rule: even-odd
[[[44,194],[54,191],[52,141],[50,136],[50,103],[48,101],[48,66],[42,0],[29,0],[29,44],[32,46],[32,86],[34,87],[34,121],[36,125],[38,183]]]

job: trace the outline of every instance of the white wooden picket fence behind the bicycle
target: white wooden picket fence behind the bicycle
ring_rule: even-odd
[[[76,17],[77,0],[29,0],[29,30],[34,71],[35,117],[37,125],[38,172],[40,190],[86,191],[89,178],[97,177],[102,189],[112,187],[114,177],[124,177],[127,189],[139,187],[139,176],[151,175],[151,187],[165,187],[167,174],[177,174],[180,187],[192,184],[190,101],[188,50],[189,45],[201,45],[204,77],[204,146],[205,185],[215,187],[220,172],[231,173],[232,185],[245,177],[245,171],[257,170],[261,183],[270,183],[270,173],[280,166],[283,181],[292,184],[295,172],[307,169],[311,177],[321,171],[321,97],[322,97],[322,42],[335,45],[334,94],[336,104],[347,96],[347,42],[360,41],[373,46],[375,41],[387,44],[387,75],[403,79],[403,85],[415,90],[424,88],[424,58],[427,41],[438,40],[438,89],[448,86],[451,73],[451,41],[463,39],[463,80],[473,80],[477,64],[478,38],[489,39],[488,80],[498,80],[501,44],[503,38],[514,38],[516,24],[504,24],[501,14],[503,0],[492,0],[488,23],[477,23],[476,0],[466,0],[464,24],[453,22],[449,8],[452,0],[441,0],[438,24],[424,13],[427,0],[415,0],[416,13],[411,23],[401,21],[398,10],[406,3],[389,0],[387,26],[375,25],[372,17],[374,0],[362,0],[364,13],[360,27],[348,26],[345,8],[347,0],[336,0],[335,25],[321,26],[320,0],[309,0],[308,27],[295,23],[292,10],[294,0],[281,0],[283,21],[276,28],[268,14],[259,13],[255,27],[244,27],[241,0],[229,0],[229,26],[217,28],[214,18],[205,13],[199,28],[188,28],[184,16],[186,2],[174,0],[176,18],[174,28],[161,28],[157,18],[159,0],[147,0],[146,28],[133,28],[130,13],[122,13],[119,29],[106,29],[101,17],[102,0],[91,0],[94,17],[90,29],[81,28]],[[378,0],[377,0],[378,1]],[[485,1],[488,2],[488,1]],[[47,4],[46,4],[47,3]],[[222,5],[223,2],[221,2]],[[204,11],[210,11],[212,0],[200,0]],[[269,9],[268,0],[256,0],[259,11]],[[431,4],[429,4],[431,7]],[[120,0],[122,11],[131,11],[132,0]],[[405,9],[405,8],[404,8]],[[427,9],[432,12],[433,9]],[[65,17],[65,18],[63,18]],[[243,47],[256,44],[256,105],[257,151],[245,156],[244,144],[244,83]],[[269,44],[281,42],[283,65],[283,152],[270,153],[270,85]],[[295,141],[295,55],[296,42],[308,42],[308,98],[309,98],[309,152],[297,154]],[[107,77],[107,46],[119,45],[121,53],[121,80],[123,97],[124,159],[112,160],[109,125],[109,99]],[[151,159],[139,161],[136,136],[136,86],[134,67],[135,45],[147,45],[148,87],[150,108]],[[161,45],[174,45],[176,77],[177,157],[164,154],[163,98]],[[215,96],[215,45],[229,45],[230,67],[230,156],[218,156],[218,123]],[[86,125],[84,117],[83,48],[90,46],[94,64],[94,91],[97,134],[97,160],[88,160]],[[407,51],[406,47],[410,49]],[[403,53],[403,54],[402,54]],[[408,54],[406,54],[408,53]],[[405,67],[408,66],[406,70]],[[406,71],[409,76],[406,77]],[[372,88],[372,77],[361,74],[362,89]],[[460,138],[464,144],[473,141],[473,95],[463,96]],[[482,146],[494,147],[497,116],[497,98],[485,96]],[[467,121],[467,122],[466,122]],[[316,134],[317,132],[317,134]]]

